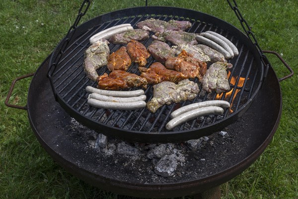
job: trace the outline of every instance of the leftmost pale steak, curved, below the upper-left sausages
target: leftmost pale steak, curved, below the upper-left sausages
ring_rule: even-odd
[[[96,81],[97,69],[107,64],[107,57],[110,54],[109,42],[101,39],[92,44],[84,53],[84,72],[87,77]]]

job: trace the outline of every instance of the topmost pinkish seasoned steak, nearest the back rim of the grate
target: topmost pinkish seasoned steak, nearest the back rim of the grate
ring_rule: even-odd
[[[168,22],[159,19],[146,19],[145,21],[140,21],[137,23],[138,28],[152,32],[163,32],[166,30],[186,30],[191,27],[191,22],[189,21],[177,21],[169,20]]]

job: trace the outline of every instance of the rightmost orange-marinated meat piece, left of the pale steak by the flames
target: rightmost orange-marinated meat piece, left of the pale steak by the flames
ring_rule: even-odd
[[[177,57],[166,60],[167,69],[181,72],[187,78],[199,78],[201,81],[207,70],[207,64],[192,57],[191,54],[182,50]]]

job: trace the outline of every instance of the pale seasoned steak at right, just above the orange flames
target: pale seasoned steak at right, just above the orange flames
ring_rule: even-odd
[[[213,63],[207,70],[202,79],[202,86],[205,91],[211,93],[222,93],[230,90],[228,83],[226,69],[229,68],[227,63],[216,62]]]

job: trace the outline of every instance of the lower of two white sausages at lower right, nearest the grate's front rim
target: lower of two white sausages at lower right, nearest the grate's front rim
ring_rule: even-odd
[[[196,108],[194,110],[185,112],[181,115],[178,115],[177,117],[174,117],[171,119],[166,125],[165,128],[167,130],[171,130],[174,127],[178,126],[181,123],[184,123],[188,120],[194,119],[199,116],[203,115],[221,115],[224,113],[224,109],[219,106],[208,106],[208,107],[202,107],[202,108]]]

